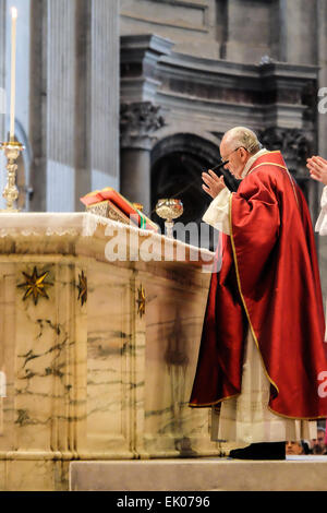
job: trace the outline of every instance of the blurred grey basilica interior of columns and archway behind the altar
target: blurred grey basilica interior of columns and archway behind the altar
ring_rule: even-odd
[[[112,187],[156,223],[160,198],[201,223],[201,172],[218,164],[222,134],[246,126],[281,150],[315,224],[322,186],[305,163],[327,158],[326,0],[0,0],[0,141],[13,5],[23,212],[83,212],[81,196]],[[326,297],[327,238],[316,243]]]

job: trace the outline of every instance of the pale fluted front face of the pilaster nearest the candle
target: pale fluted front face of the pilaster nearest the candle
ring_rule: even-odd
[[[47,52],[47,211],[71,212],[74,205],[74,0],[48,1]]]

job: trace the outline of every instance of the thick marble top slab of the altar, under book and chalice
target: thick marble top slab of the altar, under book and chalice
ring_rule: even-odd
[[[117,249],[114,243],[121,246],[121,251],[126,248],[126,258],[121,261],[167,261],[195,267],[210,266],[214,261],[214,253],[207,249],[90,213],[1,213],[0,216],[0,254],[59,253],[114,261],[110,256]]]

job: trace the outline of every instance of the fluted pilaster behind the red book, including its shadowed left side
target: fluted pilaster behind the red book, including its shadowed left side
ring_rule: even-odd
[[[78,0],[76,10],[75,208],[119,189],[119,0]]]

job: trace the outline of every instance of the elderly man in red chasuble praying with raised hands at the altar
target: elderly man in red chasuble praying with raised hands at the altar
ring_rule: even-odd
[[[284,460],[327,417],[327,357],[316,249],[304,196],[280,152],[237,127],[221,141],[240,182],[203,174],[204,220],[223,232],[190,406],[213,407],[213,440],[242,460]],[[244,448],[245,445],[245,448]]]

